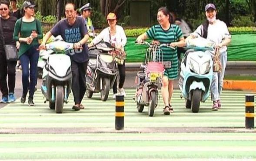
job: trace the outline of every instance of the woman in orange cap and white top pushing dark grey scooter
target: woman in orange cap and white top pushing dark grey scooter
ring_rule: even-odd
[[[124,51],[124,46],[126,45],[127,38],[124,33],[123,27],[116,25],[115,13],[109,13],[106,17],[106,20],[109,24],[109,27],[102,30],[100,34],[96,36],[90,44],[88,44],[88,47],[93,46],[103,40],[104,42],[109,42],[117,49]],[[118,70],[120,75],[119,85],[117,88],[117,83],[115,81],[113,85],[113,99],[116,98],[117,90],[118,92],[120,92],[121,95],[126,95],[123,89],[123,83],[125,81],[125,62],[123,62],[122,65],[118,64]]]

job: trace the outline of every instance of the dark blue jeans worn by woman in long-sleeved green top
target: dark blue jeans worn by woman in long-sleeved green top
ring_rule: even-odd
[[[20,56],[20,63],[22,67],[22,87],[23,95],[27,95],[30,76],[30,91],[29,96],[33,99],[35,92],[35,85],[37,83],[37,62],[39,58],[39,51],[37,51],[38,45],[30,47],[22,56]],[[30,69],[28,67],[30,63]]]

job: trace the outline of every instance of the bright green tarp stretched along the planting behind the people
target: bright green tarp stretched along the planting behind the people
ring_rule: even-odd
[[[128,37],[126,62],[143,62],[146,45],[135,45],[136,38]],[[232,33],[228,46],[228,61],[256,61],[256,33]]]

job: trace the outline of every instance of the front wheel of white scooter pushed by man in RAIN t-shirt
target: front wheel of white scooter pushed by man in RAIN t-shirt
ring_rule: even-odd
[[[55,99],[55,112],[56,113],[63,112],[63,102],[64,102],[63,86],[58,85],[56,87],[56,99]]]

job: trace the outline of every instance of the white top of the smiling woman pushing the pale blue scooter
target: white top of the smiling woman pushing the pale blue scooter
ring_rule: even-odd
[[[203,30],[203,25],[200,25],[197,27],[196,31],[194,31],[192,34],[195,37],[203,36],[202,30]],[[231,39],[231,35],[229,34],[229,30],[228,30],[228,27],[226,26],[226,23],[224,23],[221,20],[216,20],[216,23],[209,24],[207,39],[214,41],[216,45],[221,43],[224,39]],[[223,46],[219,50],[219,52],[223,53],[226,50],[227,50],[227,46]]]

